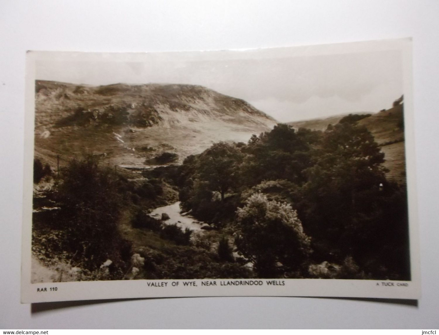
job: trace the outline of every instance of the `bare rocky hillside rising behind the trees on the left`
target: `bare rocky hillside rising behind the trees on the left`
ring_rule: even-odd
[[[56,166],[86,153],[139,165],[163,152],[181,162],[220,140],[247,141],[276,121],[247,102],[183,84],[75,85],[37,80],[35,156]]]

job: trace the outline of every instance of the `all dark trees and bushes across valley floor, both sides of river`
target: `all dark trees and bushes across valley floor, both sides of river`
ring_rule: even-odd
[[[34,250],[67,255],[92,273],[82,280],[409,280],[406,188],[386,178],[384,154],[357,124],[364,117],[348,115],[325,131],[279,124],[131,181],[93,156],[72,160],[34,199],[56,206],[34,214]],[[36,160],[34,182],[45,176],[50,166]],[[202,231],[149,214],[177,192],[182,212],[209,224]]]

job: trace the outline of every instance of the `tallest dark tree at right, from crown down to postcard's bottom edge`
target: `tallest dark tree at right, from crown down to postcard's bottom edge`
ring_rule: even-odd
[[[404,192],[386,179],[384,154],[373,135],[350,122],[328,127],[314,160],[295,199],[313,236],[314,257],[341,262],[353,256],[363,267],[375,259],[374,268],[383,267],[385,257],[378,250],[401,249],[404,238],[395,241],[394,235],[403,236],[407,215],[399,196]]]

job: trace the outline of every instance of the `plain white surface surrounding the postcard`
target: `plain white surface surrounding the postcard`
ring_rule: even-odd
[[[439,328],[439,2],[0,1],[0,328]],[[422,298],[20,304],[25,50],[176,51],[412,36]]]

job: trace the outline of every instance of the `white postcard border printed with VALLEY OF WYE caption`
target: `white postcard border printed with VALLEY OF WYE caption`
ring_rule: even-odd
[[[22,303],[65,300],[122,299],[147,297],[194,296],[319,296],[418,299],[421,295],[419,224],[417,219],[416,165],[414,152],[414,110],[411,39],[340,43],[308,47],[286,47],[234,51],[203,51],[209,60],[252,57],[291,57],[317,54],[343,54],[378,50],[401,50],[403,54],[403,87],[405,118],[405,154],[409,204],[411,281],[342,280],[342,279],[275,279],[278,285],[267,285],[267,279],[194,279],[81,281],[31,284],[32,241],[32,161],[34,147],[35,65],[39,59],[75,59],[81,61],[145,61],[158,58],[190,59],[200,52],[102,54],[29,51],[26,63],[25,89],[25,157],[22,224]],[[260,281],[262,285],[221,285],[232,281]],[[184,282],[196,286],[185,286]],[[204,286],[202,282],[215,282]],[[178,283],[178,284],[176,284]],[[149,284],[149,285],[148,285]],[[259,284],[259,283],[258,283]],[[154,286],[153,286],[154,285]]]

